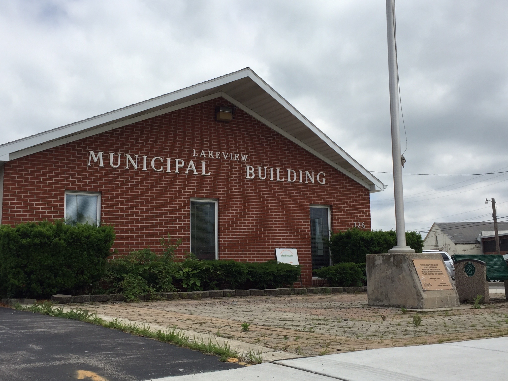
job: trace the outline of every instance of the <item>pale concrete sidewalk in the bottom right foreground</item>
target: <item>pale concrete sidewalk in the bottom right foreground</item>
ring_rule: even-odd
[[[508,337],[315,356],[157,381],[497,381],[508,379]]]

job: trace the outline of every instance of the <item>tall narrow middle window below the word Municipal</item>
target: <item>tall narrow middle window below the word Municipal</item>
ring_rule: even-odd
[[[217,225],[217,200],[190,200],[190,251],[198,259],[218,259]]]

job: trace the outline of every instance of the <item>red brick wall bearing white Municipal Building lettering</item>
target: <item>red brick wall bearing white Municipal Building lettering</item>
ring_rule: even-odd
[[[148,245],[159,250],[159,239],[170,233],[182,239],[183,255],[190,249],[189,199],[213,198],[220,259],[265,261],[274,259],[275,247],[296,247],[304,283],[311,283],[310,204],[331,206],[334,231],[354,221],[370,229],[369,191],[241,110],[230,123],[216,122],[214,107],[227,104],[215,99],[8,162],[2,223],[62,218],[65,190],[101,192],[102,223],[114,225],[113,248],[120,254]],[[194,149],[207,157],[194,157]],[[90,150],[104,152],[103,168],[93,160],[87,166]],[[208,151],[248,156],[245,162],[226,160],[222,153],[210,158]],[[119,168],[110,166],[109,152],[115,153],[114,165],[122,153]],[[139,155],[137,170],[125,169],[125,154]],[[154,156],[163,158],[155,162],[157,169],[164,164],[163,171],[151,168]],[[175,158],[185,163],[178,174]],[[197,175],[192,169],[182,173],[189,160]],[[201,175],[201,161],[209,176]],[[245,178],[246,165],[256,169],[255,179]],[[266,180],[258,179],[258,166],[268,167]],[[284,179],[287,169],[297,176],[302,170],[303,182],[270,181],[270,167],[280,168]],[[305,171],[324,172],[326,184],[305,183]]]

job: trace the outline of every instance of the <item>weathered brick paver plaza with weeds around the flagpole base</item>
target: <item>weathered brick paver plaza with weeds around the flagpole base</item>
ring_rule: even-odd
[[[502,297],[502,298],[501,298]],[[192,330],[302,355],[508,335],[508,302],[418,312],[367,306],[366,293],[87,304],[100,314]],[[250,323],[242,332],[241,324]]]

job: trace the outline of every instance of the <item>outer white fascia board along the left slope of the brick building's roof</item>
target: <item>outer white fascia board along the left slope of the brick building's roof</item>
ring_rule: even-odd
[[[65,138],[65,137],[68,137],[70,139],[69,141],[74,141],[75,139],[73,137],[71,137],[71,135],[79,134],[83,130],[93,129],[94,126],[108,123],[108,122],[113,122],[115,120],[128,117],[129,115],[137,114],[137,113],[143,112],[145,110],[149,110],[154,107],[162,106],[164,104],[174,102],[174,101],[177,101],[177,100],[185,98],[185,97],[193,96],[194,94],[199,93],[201,91],[206,91],[211,88],[220,86],[222,84],[226,84],[226,83],[229,83],[232,81],[236,81],[236,80],[245,78],[248,76],[249,71],[250,70],[243,69],[243,70],[240,70],[240,71],[232,73],[232,74],[227,74],[226,76],[223,76],[223,77],[211,79],[207,82],[199,83],[197,85],[186,87],[181,90],[170,92],[169,94],[165,94],[160,97],[156,97],[156,98],[153,98],[153,99],[150,99],[147,101],[136,103],[131,106],[126,106],[121,109],[108,112],[106,114],[94,116],[94,117],[91,117],[91,118],[88,118],[88,119],[85,119],[85,120],[82,120],[79,122],[61,126],[59,128],[53,129],[53,130],[45,131],[45,132],[42,132],[37,135],[29,136],[26,138],[15,140],[10,143],[3,144],[2,146],[0,146],[0,157],[4,156],[6,154],[12,154],[13,152],[16,152],[16,151],[25,150],[30,147],[40,146],[40,145],[43,145],[44,143],[49,143],[54,140],[60,141],[60,139]],[[117,125],[117,127],[118,126],[120,126],[120,125]],[[91,135],[93,135],[93,134],[91,134]],[[60,144],[62,144],[62,143],[60,143]],[[35,152],[38,152],[38,150],[36,150]],[[17,156],[17,157],[20,157],[20,156]],[[14,158],[17,158],[17,157],[9,157],[9,160],[13,160]]]

